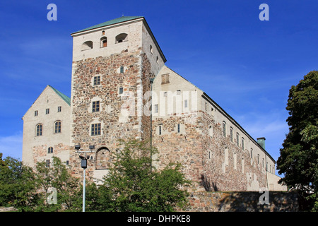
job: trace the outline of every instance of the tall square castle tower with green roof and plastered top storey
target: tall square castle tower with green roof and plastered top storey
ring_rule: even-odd
[[[87,154],[86,170],[88,177],[101,179],[119,138],[151,137],[151,117],[143,114],[143,97],[166,59],[140,16],[123,16],[71,35],[70,165],[74,174],[81,172],[74,145],[80,144],[81,150],[95,145],[94,152]]]

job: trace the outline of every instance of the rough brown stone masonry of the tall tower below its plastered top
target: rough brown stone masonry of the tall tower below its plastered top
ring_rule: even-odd
[[[89,150],[89,145],[95,145],[94,151],[107,148],[114,152],[119,148],[119,139],[150,138],[150,116],[142,114],[143,94],[151,88],[148,62],[141,50],[124,50],[110,57],[73,62],[71,143],[81,144],[81,150]],[[124,73],[120,71],[121,66],[124,66]],[[100,76],[100,85],[93,85],[94,76]],[[121,87],[122,94],[119,93]],[[95,100],[100,101],[99,112],[92,112]],[[97,123],[101,124],[101,134],[91,136],[91,125]],[[80,158],[71,148],[73,174],[81,177]],[[87,153],[93,157],[88,160],[88,178],[93,177],[98,162],[107,159],[103,153],[106,155],[107,152]]]

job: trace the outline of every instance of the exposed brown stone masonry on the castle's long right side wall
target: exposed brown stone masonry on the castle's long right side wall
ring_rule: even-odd
[[[266,187],[266,174],[255,166],[246,150],[223,136],[222,125],[202,112],[204,186],[208,191],[258,191]],[[210,128],[211,126],[211,128]]]

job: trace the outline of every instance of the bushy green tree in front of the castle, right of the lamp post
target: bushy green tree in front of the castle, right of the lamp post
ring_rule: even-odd
[[[180,165],[172,163],[159,171],[152,162],[156,148],[136,140],[122,145],[122,150],[113,153],[113,165],[99,188],[104,210],[172,211],[187,206],[188,193],[182,188],[190,182],[184,179]]]

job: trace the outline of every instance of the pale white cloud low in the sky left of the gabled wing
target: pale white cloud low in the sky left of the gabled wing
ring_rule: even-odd
[[[3,158],[10,156],[22,160],[22,140],[22,131],[11,136],[0,136],[0,153],[4,154]]]

